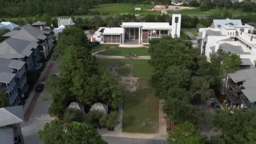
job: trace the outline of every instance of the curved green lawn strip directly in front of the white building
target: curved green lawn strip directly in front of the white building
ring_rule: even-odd
[[[125,54],[133,54],[135,53],[138,56],[149,56],[148,48],[110,48],[107,51],[102,51],[99,54],[109,55],[109,56],[124,56]]]

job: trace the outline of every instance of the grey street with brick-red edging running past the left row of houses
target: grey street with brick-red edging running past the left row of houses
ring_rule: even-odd
[[[59,72],[59,62],[54,63],[51,69],[50,67],[51,64],[49,64],[48,67],[45,68],[47,69],[46,71],[50,72],[43,73],[45,75],[42,75],[39,80],[44,81],[44,79],[47,79],[50,73],[57,74]],[[35,91],[33,90],[31,92],[31,95],[33,95],[34,93]],[[35,99],[35,101],[33,99]],[[25,115],[27,121],[24,122],[24,125],[21,128],[25,144],[41,144],[42,142],[40,141],[40,138],[38,136],[38,131],[43,129],[45,123],[53,120],[47,113],[52,100],[51,94],[48,93],[46,88],[44,88],[41,93],[35,93],[33,99]]]

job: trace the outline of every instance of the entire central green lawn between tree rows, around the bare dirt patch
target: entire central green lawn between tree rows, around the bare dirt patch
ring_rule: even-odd
[[[159,99],[149,85],[153,67],[148,60],[141,59],[98,59],[99,72],[102,74],[108,67],[119,66],[117,72],[122,76],[139,77],[135,92],[122,87],[123,132],[157,133],[159,116]],[[132,67],[128,67],[127,64]]]

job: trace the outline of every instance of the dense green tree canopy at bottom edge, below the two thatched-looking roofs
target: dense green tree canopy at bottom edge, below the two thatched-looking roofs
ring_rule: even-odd
[[[72,122],[65,126],[60,121],[46,123],[38,134],[43,144],[107,144],[91,126]]]

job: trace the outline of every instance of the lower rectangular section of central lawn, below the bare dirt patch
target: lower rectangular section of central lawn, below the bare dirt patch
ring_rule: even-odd
[[[123,132],[157,133],[159,99],[148,79],[138,80],[136,92],[123,91]]]

